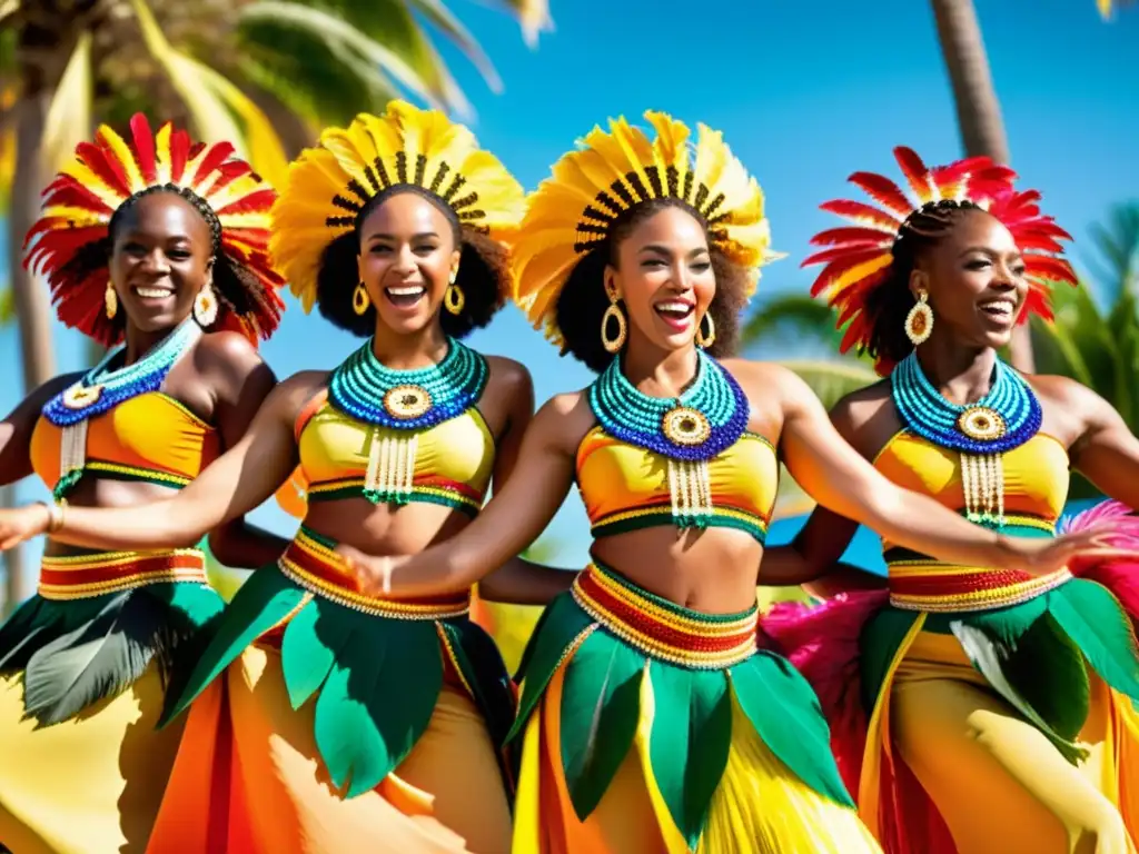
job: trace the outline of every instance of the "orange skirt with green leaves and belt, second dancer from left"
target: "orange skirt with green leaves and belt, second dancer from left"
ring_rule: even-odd
[[[333,548],[302,528],[227,608],[150,852],[508,849],[514,692],[469,598],[364,597]]]

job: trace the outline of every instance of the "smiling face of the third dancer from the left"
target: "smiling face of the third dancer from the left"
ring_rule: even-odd
[[[648,215],[616,245],[605,285],[624,301],[632,339],[666,351],[691,346],[715,296],[704,227],[681,207]]]

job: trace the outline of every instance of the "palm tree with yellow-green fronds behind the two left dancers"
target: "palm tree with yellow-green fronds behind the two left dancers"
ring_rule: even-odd
[[[548,0],[494,0],[533,44]],[[423,22],[426,22],[425,25]],[[466,115],[429,31],[501,82],[441,0],[0,0],[0,197],[24,386],[56,372],[46,288],[21,265],[44,179],[97,123],[146,110],[236,141],[280,183],[289,156],[361,106],[408,95]],[[9,599],[24,590],[9,575]]]

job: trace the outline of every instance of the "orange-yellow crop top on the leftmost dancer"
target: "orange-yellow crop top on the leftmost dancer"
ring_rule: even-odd
[[[35,474],[54,490],[59,482],[63,428],[41,417],[30,454]],[[161,392],[125,400],[87,422],[84,470],[123,481],[182,487],[216,459],[218,432]]]

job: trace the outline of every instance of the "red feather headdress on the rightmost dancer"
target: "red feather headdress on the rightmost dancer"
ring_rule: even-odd
[[[852,224],[811,238],[812,245],[827,248],[803,262],[803,266],[823,264],[811,296],[825,296],[837,307],[838,328],[846,327],[841,351],[867,346],[872,326],[865,311],[867,296],[890,278],[894,241],[907,219],[921,205],[943,199],[972,202],[1005,224],[1021,248],[1029,279],[1029,296],[1017,320],[1023,323],[1029,314],[1051,320],[1050,282],[1075,285],[1076,278],[1071,264],[1058,257],[1063,252],[1059,241],[1072,238],[1051,216],[1040,213],[1040,194],[1016,190],[1016,173],[988,157],[929,167],[909,148],[895,148],[894,156],[917,204],[885,175],[855,172],[850,182],[877,204],[837,199],[820,205]],[[875,367],[885,375],[893,366],[879,360]]]

